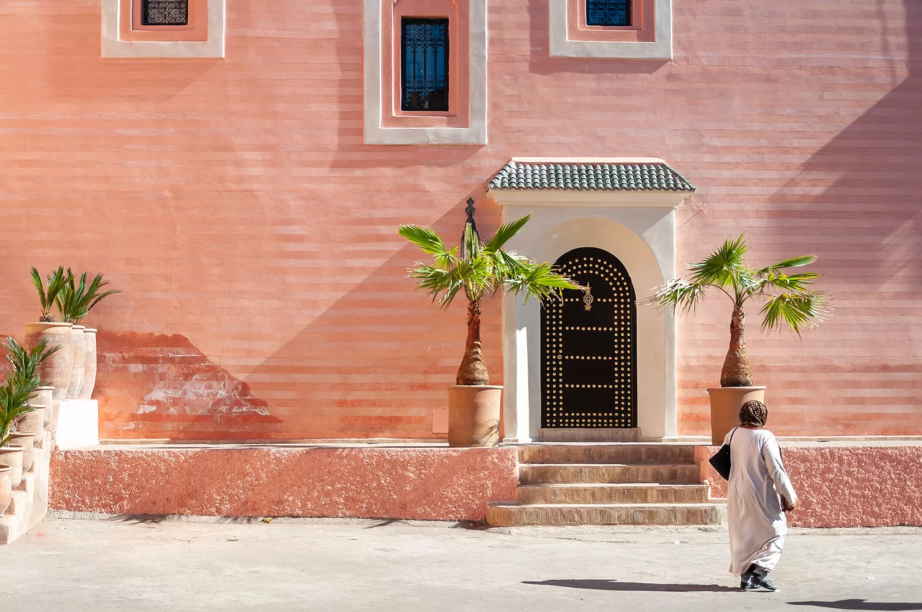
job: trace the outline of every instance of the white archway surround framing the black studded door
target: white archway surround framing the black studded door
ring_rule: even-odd
[[[514,159],[522,163],[664,163],[661,159]],[[579,247],[615,255],[631,275],[638,300],[675,276],[675,208],[688,191],[498,189],[488,196],[504,219],[531,213],[509,247],[553,263]],[[541,419],[540,306],[507,296],[503,302],[504,441],[538,440]],[[637,308],[637,426],[641,440],[674,438],[675,317]]]

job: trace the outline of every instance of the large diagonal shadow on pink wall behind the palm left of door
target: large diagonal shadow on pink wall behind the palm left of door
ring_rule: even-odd
[[[446,387],[455,383],[467,302],[462,295],[448,312],[438,312],[414,288],[407,268],[425,256],[396,230],[401,222],[431,225],[454,244],[464,227],[466,199],[467,194],[434,222],[379,219],[393,232],[394,243],[404,246],[376,268],[362,267],[373,256],[367,250],[331,255],[346,270],[366,276],[337,279],[349,282],[348,292],[245,376],[255,394],[271,396],[272,413],[285,422],[279,438],[445,437],[432,432],[432,409],[446,407]],[[486,238],[498,225],[499,211],[479,198],[477,220]],[[491,382],[502,384],[501,300],[489,300],[482,310],[484,359]]]

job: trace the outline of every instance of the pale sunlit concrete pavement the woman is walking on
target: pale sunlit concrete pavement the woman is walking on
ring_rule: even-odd
[[[739,593],[724,528],[49,519],[0,547],[0,609],[922,610],[922,529],[792,530]]]

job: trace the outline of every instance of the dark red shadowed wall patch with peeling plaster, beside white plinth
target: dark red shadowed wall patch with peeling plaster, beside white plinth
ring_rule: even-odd
[[[97,350],[100,438],[265,439],[280,429],[265,400],[184,335],[100,329]]]

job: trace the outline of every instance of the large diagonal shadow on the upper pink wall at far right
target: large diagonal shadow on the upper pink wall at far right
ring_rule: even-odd
[[[771,220],[778,234],[799,239],[808,250],[819,248],[821,262],[824,248],[834,257],[844,241],[866,239],[848,243],[855,267],[843,266],[827,277],[846,285],[858,276],[858,282],[871,283],[870,290],[881,289],[894,277],[912,283],[914,290],[922,288],[922,277],[906,274],[922,263],[922,3],[904,0],[904,9],[908,75],[813,154],[772,200],[776,208]],[[888,40],[882,46],[889,51]],[[817,177],[826,176],[838,178],[820,194],[803,194]],[[825,230],[833,241],[817,241],[814,227],[807,226],[811,216],[819,217],[817,223],[834,222]]]

